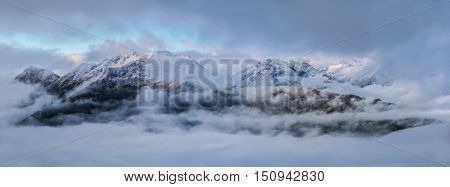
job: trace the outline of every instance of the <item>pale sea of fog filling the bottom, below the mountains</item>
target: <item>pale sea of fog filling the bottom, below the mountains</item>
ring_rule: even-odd
[[[370,118],[418,116],[431,125],[385,136],[274,133],[273,126],[292,120],[348,118],[354,114],[276,115],[255,111],[228,114],[194,110],[160,114],[151,106],[123,121],[61,127],[17,126],[52,96],[18,108],[36,88],[10,79],[0,81],[0,164],[5,166],[448,166],[450,96],[427,95],[414,83],[368,87],[359,92],[385,93],[403,109],[361,113]],[[408,87],[409,86],[409,87]],[[380,95],[380,94],[379,94]],[[114,115],[114,114],[111,114]],[[199,121],[186,128],[183,122]]]

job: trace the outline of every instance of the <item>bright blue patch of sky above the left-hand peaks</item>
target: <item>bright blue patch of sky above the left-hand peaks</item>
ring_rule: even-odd
[[[137,41],[143,33],[150,32],[155,37],[164,41],[171,51],[191,50],[193,46],[217,45],[217,40],[205,40],[200,37],[197,28],[189,24],[177,26],[160,25],[156,23],[138,23],[121,31],[113,31],[102,28],[91,28],[87,33],[74,31],[56,33],[12,33],[0,32],[0,44],[11,45],[18,48],[34,48],[44,50],[57,50],[62,53],[85,52],[92,45],[100,45],[108,39],[112,41],[131,40]],[[92,36],[92,33],[101,38]]]

